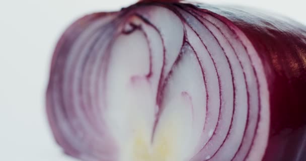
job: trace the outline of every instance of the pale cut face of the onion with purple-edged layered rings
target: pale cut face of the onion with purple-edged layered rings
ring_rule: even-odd
[[[47,106],[57,142],[83,160],[260,159],[267,85],[236,30],[179,5],[82,18],[52,61]]]

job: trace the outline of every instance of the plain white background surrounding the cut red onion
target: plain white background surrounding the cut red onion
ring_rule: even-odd
[[[44,96],[50,59],[63,30],[96,11],[136,0],[0,0],[0,160],[74,160],[51,135]],[[201,0],[198,0],[201,1]],[[261,8],[306,24],[304,0],[202,0]]]

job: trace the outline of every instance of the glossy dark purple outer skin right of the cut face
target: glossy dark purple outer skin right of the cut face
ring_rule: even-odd
[[[270,136],[263,160],[306,160],[306,27],[248,9],[206,5],[205,9],[238,26],[264,65],[270,95]]]

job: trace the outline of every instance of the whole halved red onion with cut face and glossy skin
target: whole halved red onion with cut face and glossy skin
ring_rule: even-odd
[[[306,160],[306,28],[251,9],[139,2],[73,23],[47,113],[86,161]]]

